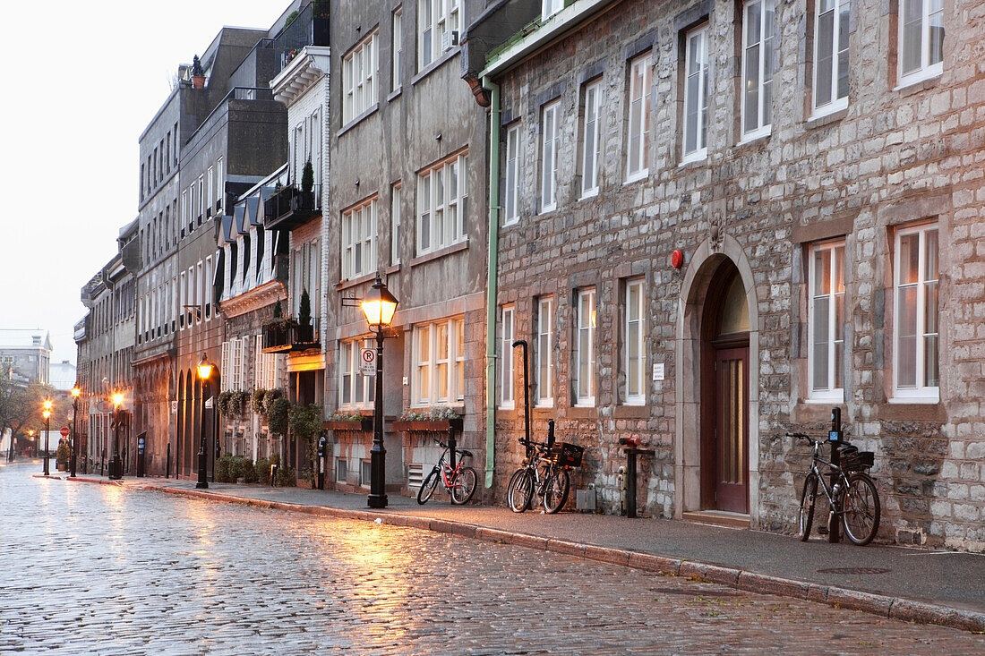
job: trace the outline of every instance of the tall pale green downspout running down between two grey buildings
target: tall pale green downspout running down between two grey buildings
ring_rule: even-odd
[[[490,223],[489,261],[486,280],[486,487],[493,487],[495,456],[495,310],[496,270],[499,266],[499,85],[483,78],[490,98]]]

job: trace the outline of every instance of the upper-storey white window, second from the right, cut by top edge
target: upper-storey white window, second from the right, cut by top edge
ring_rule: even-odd
[[[851,0],[815,0],[814,108],[848,106],[848,12]]]

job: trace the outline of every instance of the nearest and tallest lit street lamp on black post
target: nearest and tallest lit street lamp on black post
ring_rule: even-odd
[[[383,340],[397,311],[396,296],[390,294],[386,285],[376,276],[369,294],[362,298],[362,313],[369,324],[369,331],[376,336],[376,395],[372,409],[372,448],[369,449],[369,496],[366,503],[370,508],[385,508],[386,498],[386,448],[383,446]]]

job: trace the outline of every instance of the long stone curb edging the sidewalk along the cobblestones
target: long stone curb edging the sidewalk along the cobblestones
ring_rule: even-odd
[[[113,481],[92,481],[86,479],[75,480],[103,483],[108,485],[115,483]],[[734,567],[724,567],[722,565],[712,563],[696,562],[693,560],[683,560],[679,558],[667,558],[664,556],[657,556],[655,554],[646,554],[632,550],[613,549],[609,547],[598,547],[595,545],[585,545],[565,540],[557,540],[554,538],[542,538],[527,533],[502,531],[499,529],[478,526],[476,524],[469,524],[467,522],[432,519],[429,517],[422,517],[420,515],[402,515],[389,511],[386,513],[379,513],[371,510],[346,510],[321,505],[302,505],[298,503],[284,503],[281,501],[267,501],[263,499],[233,496],[231,494],[164,488],[154,485],[141,486],[141,489],[155,492],[182,494],[185,496],[196,496],[199,498],[207,498],[216,501],[240,503],[244,505],[253,505],[325,517],[378,521],[379,523],[390,526],[424,529],[497,544],[528,547],[530,549],[537,549],[555,554],[562,554],[565,556],[573,556],[575,558],[598,560],[600,562],[623,565],[626,567],[632,567],[633,569],[641,569],[657,574],[687,576],[694,580],[720,583],[722,585],[745,590],[747,592],[804,599],[807,601],[826,604],[834,608],[862,611],[903,622],[939,624],[941,626],[950,626],[952,628],[958,628],[971,632],[985,631],[985,613],[955,609],[936,604],[927,604],[924,602],[901,599],[897,597],[887,597],[885,595],[860,592],[858,590],[848,590],[837,586],[821,585],[818,583],[809,583],[795,579],[781,578],[778,576],[770,576],[768,574],[759,574],[756,572],[737,569]]]

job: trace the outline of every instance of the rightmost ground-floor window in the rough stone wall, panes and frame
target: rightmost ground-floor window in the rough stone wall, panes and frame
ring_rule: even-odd
[[[895,396],[938,399],[937,226],[896,234]]]

